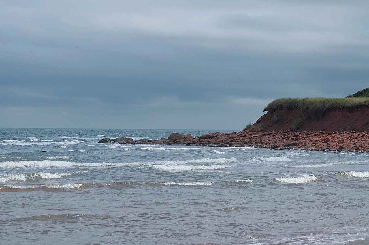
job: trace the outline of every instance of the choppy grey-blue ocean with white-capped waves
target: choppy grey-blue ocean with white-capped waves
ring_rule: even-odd
[[[369,243],[368,154],[97,143],[214,131],[0,128],[0,244]]]

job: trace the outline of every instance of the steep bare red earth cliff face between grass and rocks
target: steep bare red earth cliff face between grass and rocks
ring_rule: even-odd
[[[369,131],[369,108],[366,106],[351,110],[332,109],[315,119],[299,109],[277,110],[262,115],[251,127],[261,131],[290,130],[299,118],[303,118],[303,123],[298,131]]]

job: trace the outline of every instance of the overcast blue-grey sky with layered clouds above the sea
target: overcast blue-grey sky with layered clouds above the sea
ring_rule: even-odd
[[[0,127],[242,130],[369,87],[369,1],[0,2]]]

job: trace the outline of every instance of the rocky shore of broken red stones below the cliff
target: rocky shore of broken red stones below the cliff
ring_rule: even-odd
[[[149,144],[149,145],[208,145],[208,146],[254,146],[269,149],[303,149],[311,151],[347,151],[369,152],[369,132],[356,131],[261,131],[244,130],[220,134],[212,132],[192,137],[191,134],[173,132],[168,138],[136,139],[104,138],[99,143],[115,142],[118,144]]]

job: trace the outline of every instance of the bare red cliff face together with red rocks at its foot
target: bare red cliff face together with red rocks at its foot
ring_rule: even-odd
[[[297,121],[299,124],[297,125]],[[296,127],[292,127],[295,124]],[[298,127],[297,127],[298,126]],[[292,130],[298,129],[298,130]],[[369,152],[369,108],[332,109],[321,118],[309,118],[300,110],[276,110],[259,118],[248,130],[211,132],[192,137],[173,132],[168,138],[104,138],[100,143],[184,144],[211,146],[255,146],[273,149]]]

